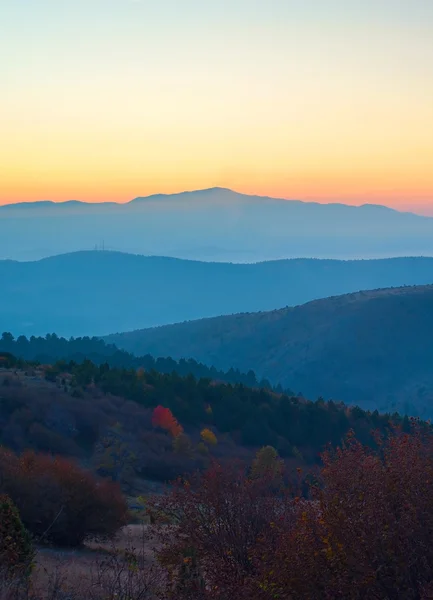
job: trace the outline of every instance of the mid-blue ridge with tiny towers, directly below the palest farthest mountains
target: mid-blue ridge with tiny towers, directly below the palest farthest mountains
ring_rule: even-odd
[[[0,281],[0,331],[69,337],[433,283],[433,259],[230,264],[89,251],[35,262],[0,261]]]

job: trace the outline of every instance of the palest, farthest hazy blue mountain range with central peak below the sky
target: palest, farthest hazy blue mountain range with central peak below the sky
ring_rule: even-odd
[[[194,260],[433,255],[433,218],[384,206],[321,205],[212,188],[126,204],[0,207],[0,258],[105,247]]]

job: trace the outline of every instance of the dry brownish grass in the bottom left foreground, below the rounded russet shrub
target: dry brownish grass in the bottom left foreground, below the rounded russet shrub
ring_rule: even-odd
[[[28,585],[0,575],[0,600],[154,600],[163,582],[146,526],[128,525],[111,542],[39,549]]]

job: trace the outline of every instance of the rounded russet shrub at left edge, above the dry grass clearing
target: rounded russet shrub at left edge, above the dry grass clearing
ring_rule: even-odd
[[[110,536],[126,523],[120,488],[63,458],[33,452],[16,456],[2,449],[0,491],[15,502],[31,533],[58,545]]]

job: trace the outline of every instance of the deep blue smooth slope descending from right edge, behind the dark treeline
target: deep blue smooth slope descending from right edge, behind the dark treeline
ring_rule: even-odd
[[[433,417],[433,286],[358,292],[108,341],[134,353],[241,370],[306,397]]]

